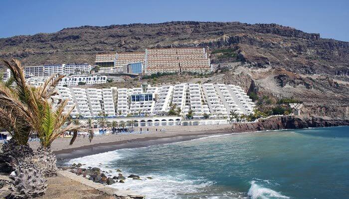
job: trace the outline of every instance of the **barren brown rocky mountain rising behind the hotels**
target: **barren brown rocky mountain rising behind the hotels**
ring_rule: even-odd
[[[207,47],[212,63],[234,66],[217,82],[259,95],[303,100],[308,113],[349,118],[349,42],[277,24],[176,21],[81,26],[0,39],[0,57],[25,65],[91,63],[97,53]],[[223,51],[217,51],[222,50]]]

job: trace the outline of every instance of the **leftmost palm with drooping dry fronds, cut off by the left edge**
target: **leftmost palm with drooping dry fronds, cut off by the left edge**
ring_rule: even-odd
[[[25,81],[23,68],[18,60],[0,61],[11,71],[11,78],[0,83],[0,127],[10,133],[12,139],[2,145],[2,155],[7,163],[13,166],[18,159],[32,154],[27,144],[33,132],[28,123],[33,119],[32,107],[35,104],[33,91]]]

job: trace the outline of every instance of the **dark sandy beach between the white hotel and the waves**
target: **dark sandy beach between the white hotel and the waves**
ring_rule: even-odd
[[[70,138],[58,138],[52,143],[52,150],[57,156],[58,163],[69,159],[103,153],[122,148],[138,148],[151,145],[186,141],[200,137],[232,133],[231,131],[206,130],[206,131],[167,131],[142,134],[110,134],[95,136],[90,143],[87,136],[78,137],[73,145],[69,145]],[[30,142],[32,148],[37,148],[39,142]]]

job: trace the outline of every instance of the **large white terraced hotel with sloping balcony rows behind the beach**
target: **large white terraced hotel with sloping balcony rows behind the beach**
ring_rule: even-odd
[[[176,109],[180,108],[180,115],[184,117],[192,110],[194,119],[203,118],[205,114],[211,119],[228,119],[231,110],[251,114],[255,106],[239,86],[224,84],[183,83],[161,87],[145,84],[132,89],[58,87],[58,93],[62,99],[75,103],[73,117],[96,117],[100,113],[109,117],[162,117],[168,115],[173,104]]]

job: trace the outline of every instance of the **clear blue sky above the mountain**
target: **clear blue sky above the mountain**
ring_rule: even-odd
[[[277,23],[349,41],[349,0],[1,0],[0,38],[165,21]]]

